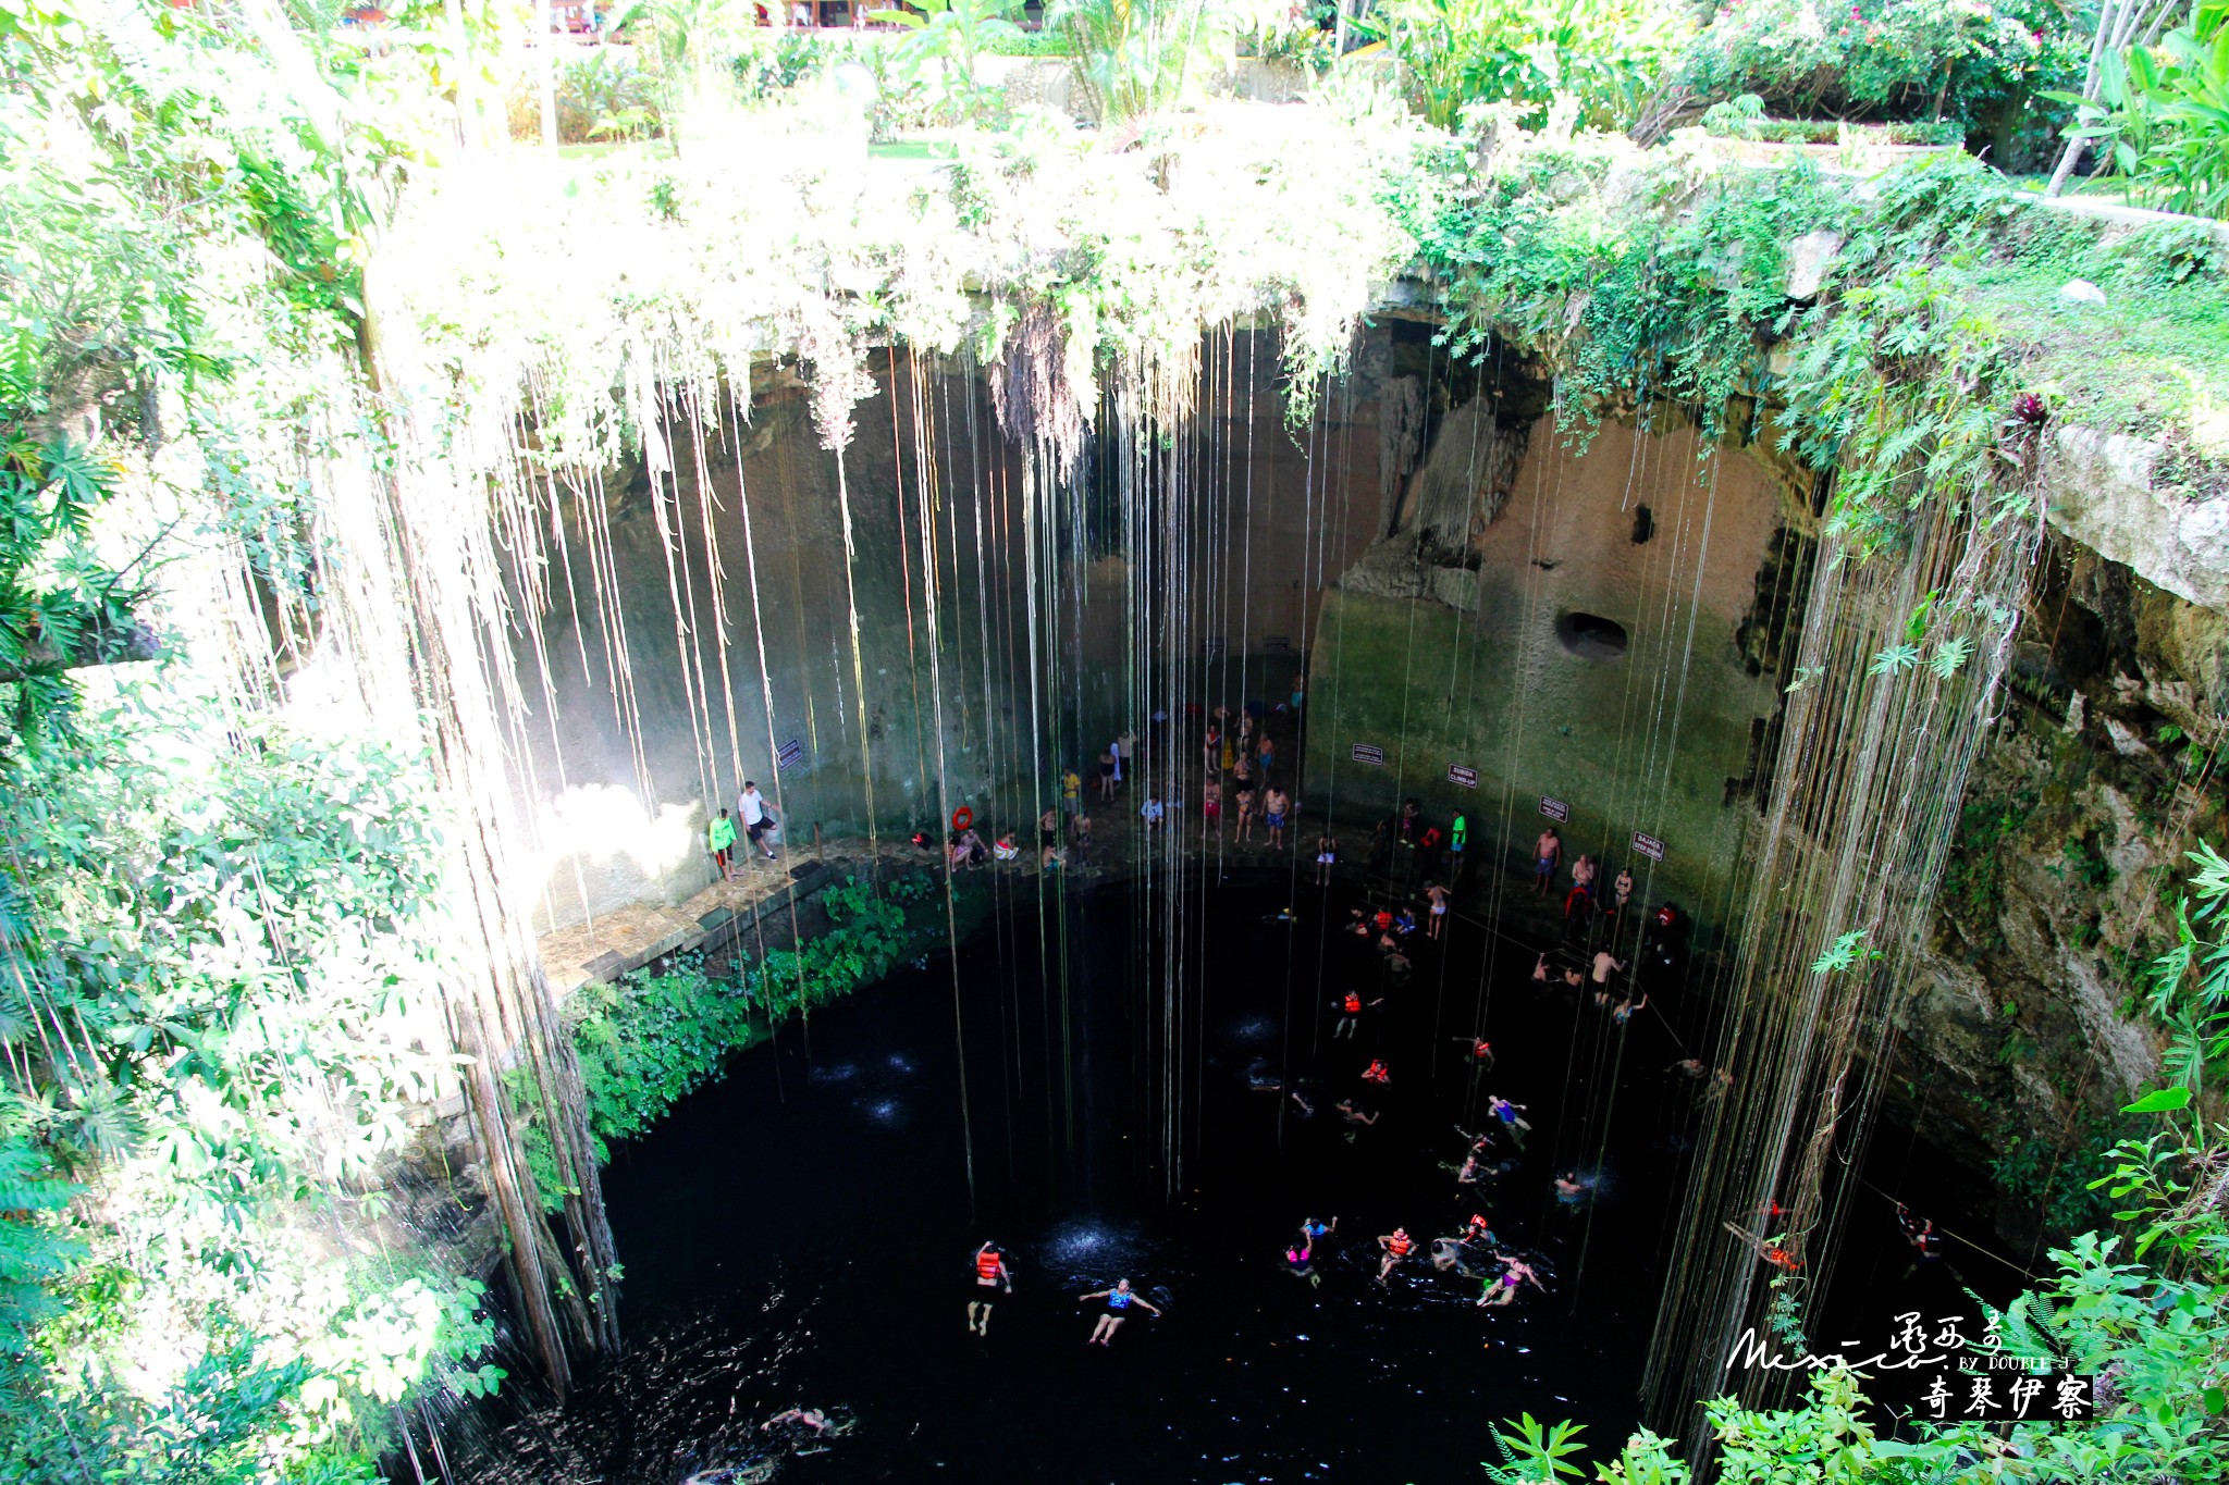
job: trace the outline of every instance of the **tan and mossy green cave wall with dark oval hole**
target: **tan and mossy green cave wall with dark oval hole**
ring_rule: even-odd
[[[1754,617],[1774,599],[1785,617],[1779,557],[1805,512],[1763,459],[1692,423],[1609,423],[1580,448],[1551,414],[1473,407],[1440,421],[1400,530],[1328,594],[1306,810],[1366,833],[1409,795],[1438,819],[1460,806],[1482,859],[1520,866],[1549,795],[1569,806],[1567,859],[1629,864],[1645,897],[1719,926],[1781,695]],[[1636,830],[1665,844],[1661,864]]]

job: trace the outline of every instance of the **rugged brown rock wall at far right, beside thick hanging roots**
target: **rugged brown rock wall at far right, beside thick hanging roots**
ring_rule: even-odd
[[[2024,1251],[2097,1220],[2082,1182],[2155,1078],[2142,968],[2173,942],[2184,855],[2229,828],[2225,666],[2229,617],[2051,537],[1888,1080],[1892,1118],[1990,1169]]]

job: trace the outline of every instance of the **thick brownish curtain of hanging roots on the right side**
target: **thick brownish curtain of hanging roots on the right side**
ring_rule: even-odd
[[[1966,775],[1995,717],[2040,501],[1933,499],[1897,550],[1821,539],[1772,797],[1734,933],[1710,1115],[1656,1311],[1661,1427],[1707,1447],[1701,1400],[1759,1405],[1785,1376],[1732,1369],[1745,1331],[1801,1322],[1823,1287],[1875,1084],[1912,984]],[[1970,650],[1955,663],[1955,646]],[[1917,646],[1917,652],[1910,648]],[[1814,968],[1863,933],[1848,968]],[[1785,1262],[1765,1249],[1779,1247]],[[1788,1267],[1797,1265],[1797,1267]]]

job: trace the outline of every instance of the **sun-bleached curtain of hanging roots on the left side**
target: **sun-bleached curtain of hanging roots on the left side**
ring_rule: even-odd
[[[330,612],[352,650],[352,672],[372,715],[390,724],[403,715],[424,719],[435,779],[457,824],[450,862],[459,877],[457,973],[448,982],[448,1022],[457,1051],[468,1058],[464,1098],[508,1276],[535,1354],[562,1396],[571,1385],[566,1331],[591,1349],[615,1349],[620,1334],[609,1285],[617,1253],[604,1218],[586,1091],[542,973],[528,884],[515,879],[515,862],[526,857],[506,775],[506,730],[517,726],[524,697],[510,663],[513,603],[495,537],[535,541],[539,523],[526,508],[524,472],[508,481],[457,474],[475,468],[468,454],[455,454],[455,463],[437,456],[410,419],[386,405],[370,323],[361,367],[372,394],[368,423],[392,443],[392,456],[359,476],[372,488],[337,492],[321,503]],[[539,550],[515,548],[510,557],[515,568],[539,566]],[[533,1075],[535,1113],[566,1191],[571,1256],[551,1231],[526,1167],[522,1111],[513,1109],[499,1075],[510,1060]]]

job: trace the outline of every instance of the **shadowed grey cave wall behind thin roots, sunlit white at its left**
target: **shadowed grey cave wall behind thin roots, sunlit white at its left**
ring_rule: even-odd
[[[517,655],[528,712],[519,804],[542,842],[533,871],[544,928],[633,902],[675,904],[707,886],[704,824],[733,806],[744,777],[778,804],[791,848],[807,848],[816,824],[863,833],[869,793],[885,835],[941,819],[938,757],[943,804],[1028,833],[1057,795],[1059,764],[1088,773],[1117,730],[1146,732],[1126,715],[1137,608],[1112,496],[1119,450],[1094,443],[1083,490],[1061,501],[1032,692],[1023,470],[981,374],[938,367],[916,399],[905,350],[878,352],[869,372],[874,392],[854,410],[858,432],[843,456],[849,588],[838,461],[820,448],[794,374],[753,381],[740,479],[736,450],[709,443],[700,483],[698,454],[678,436],[671,481],[653,483],[644,465],[604,481],[606,521],[559,501],[564,552],[542,579],[542,646]],[[1268,332],[1215,341],[1204,378],[1215,392],[1199,434],[1152,454],[1159,479],[1181,465],[1195,496],[1186,577],[1157,586],[1164,619],[1177,612],[1168,597],[1186,599],[1184,652],[1157,663],[1164,688],[1237,704],[1288,688],[1317,626],[1315,574],[1337,572],[1369,543],[1369,521],[1349,523],[1344,510],[1380,501],[1375,401],[1342,390],[1306,432],[1291,432]],[[1221,641],[1213,655],[1208,639]],[[1271,639],[1286,650],[1268,652]],[[1155,637],[1148,652],[1172,643]],[[800,759],[776,770],[791,739]]]

